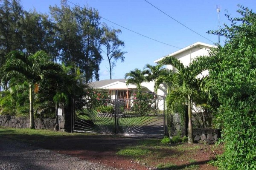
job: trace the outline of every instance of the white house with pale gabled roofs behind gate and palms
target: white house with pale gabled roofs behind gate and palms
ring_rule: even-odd
[[[195,59],[198,56],[208,56],[209,51],[211,48],[217,48],[215,45],[206,44],[203,42],[196,42],[192,45],[189,45],[185,48],[182,48],[178,51],[175,51],[169,55],[166,55],[164,57],[161,57],[154,62],[157,64],[161,60],[163,60],[165,57],[176,57],[179,59],[184,66],[188,66],[190,62]],[[174,68],[172,65],[167,65],[167,69],[173,70]],[[208,74],[208,71],[205,71],[202,73],[203,75]],[[131,96],[131,90],[137,90],[137,85],[135,84],[128,84],[126,85],[126,79],[111,79],[111,80],[101,80],[97,82],[90,82],[88,83],[90,88],[96,88],[96,89],[108,89],[108,90],[122,90],[122,92],[118,92],[118,98],[119,99],[128,99]],[[154,92],[154,82],[143,82],[141,83],[141,91],[143,92]],[[165,85],[160,85],[160,88],[157,90],[157,95],[160,96],[166,96],[167,88]],[[115,93],[112,93],[115,95]]]

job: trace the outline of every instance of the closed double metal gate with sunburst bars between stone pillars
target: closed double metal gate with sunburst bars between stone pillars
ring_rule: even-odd
[[[165,97],[135,90],[87,91],[75,101],[73,130],[163,138]]]

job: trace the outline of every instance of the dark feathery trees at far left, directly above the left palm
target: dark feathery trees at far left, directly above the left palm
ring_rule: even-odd
[[[47,14],[25,11],[20,0],[2,0],[0,9],[0,66],[4,57],[15,50],[27,53],[44,50],[56,60],[55,23]]]

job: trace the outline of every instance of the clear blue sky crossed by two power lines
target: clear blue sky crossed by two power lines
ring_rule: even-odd
[[[113,69],[112,79],[124,78],[125,73],[135,68],[143,69],[145,64],[154,65],[154,60],[167,54],[175,52],[195,42],[204,42],[212,44],[218,42],[218,36],[207,34],[208,30],[218,28],[218,14],[216,5],[220,6],[219,13],[220,25],[230,24],[224,14],[231,14],[237,17],[236,10],[241,4],[253,9],[255,12],[256,0],[147,0],[157,8],[164,11],[175,20],[189,27],[198,34],[190,31],[188,28],[180,25],[175,20],[166,16],[145,0],[69,0],[81,7],[88,6],[99,11],[99,15],[117,23],[123,27],[136,31],[152,39],[173,45],[175,48],[160,42],[145,38],[125,28],[119,27],[107,20],[102,19],[102,23],[108,26],[119,28],[122,34],[119,39],[125,42],[123,51],[125,61],[116,63]],[[41,13],[49,14],[49,6],[60,6],[60,0],[21,0],[23,8],[27,11],[36,9]],[[74,5],[67,2],[70,7]],[[221,37],[223,44],[224,38]],[[108,62],[106,56],[102,53],[104,60],[100,65],[100,80],[109,79]]]

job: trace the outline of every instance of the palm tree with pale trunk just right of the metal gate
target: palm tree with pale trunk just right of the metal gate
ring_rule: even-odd
[[[192,101],[193,97],[198,96],[201,91],[208,91],[210,84],[208,77],[198,78],[201,74],[202,69],[198,67],[196,61],[193,61],[189,67],[184,66],[175,57],[166,57],[161,62],[161,65],[172,65],[175,67],[175,71],[172,75],[166,79],[172,82],[172,88],[167,97],[167,105],[174,108],[175,103],[186,100],[188,104],[188,118],[189,118],[189,128],[188,128],[188,139],[189,143],[193,143],[193,131],[192,131]],[[161,78],[161,77],[160,77]],[[160,80],[157,80],[159,83]]]

